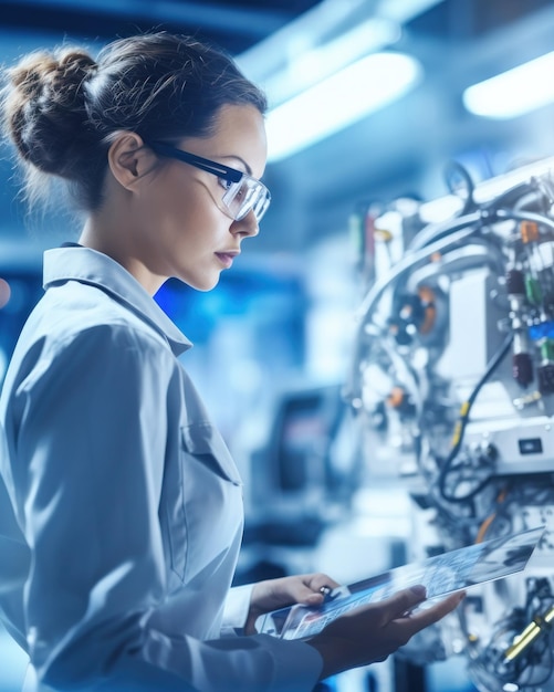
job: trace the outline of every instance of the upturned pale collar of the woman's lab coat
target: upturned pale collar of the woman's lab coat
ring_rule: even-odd
[[[125,304],[167,339],[176,356],[192,346],[138,281],[112,258],[79,245],[46,250],[44,290],[72,280],[98,286]]]

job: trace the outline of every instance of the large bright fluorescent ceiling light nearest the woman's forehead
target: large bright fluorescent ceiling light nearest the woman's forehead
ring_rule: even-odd
[[[302,92],[268,114],[269,160],[286,158],[396,101],[421,72],[409,55],[374,53]]]

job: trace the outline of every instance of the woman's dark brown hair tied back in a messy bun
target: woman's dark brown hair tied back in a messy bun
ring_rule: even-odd
[[[96,61],[83,49],[31,53],[6,76],[2,120],[27,165],[28,195],[41,196],[39,172],[59,176],[86,210],[101,202],[114,133],[202,137],[226,104],[266,108],[224,51],[167,32],[114,41]]]

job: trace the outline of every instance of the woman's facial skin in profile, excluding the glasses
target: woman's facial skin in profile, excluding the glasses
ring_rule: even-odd
[[[177,146],[260,178],[266,157],[263,116],[250,105],[226,105],[212,136],[187,137]],[[258,233],[253,212],[241,221],[226,213],[226,181],[189,164],[160,157],[136,191],[130,271],[150,293],[170,276],[209,291],[244,238]]]

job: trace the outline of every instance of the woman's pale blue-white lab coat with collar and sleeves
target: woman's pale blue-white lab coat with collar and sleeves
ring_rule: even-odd
[[[100,252],[48,251],[44,287],[0,398],[0,615],[25,692],[311,690],[312,647],[237,635],[241,480],[190,343]]]

